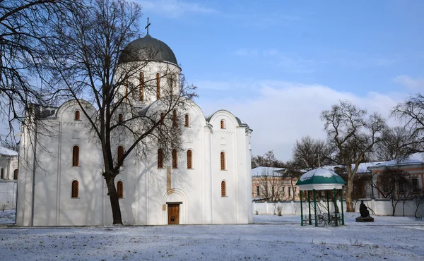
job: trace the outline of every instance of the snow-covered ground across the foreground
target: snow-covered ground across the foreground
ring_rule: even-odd
[[[11,228],[0,260],[424,260],[424,221],[300,226],[298,216],[254,216],[255,224]]]

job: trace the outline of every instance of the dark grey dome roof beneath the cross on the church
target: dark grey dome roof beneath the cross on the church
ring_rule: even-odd
[[[119,56],[118,63],[130,61],[168,61],[177,63],[174,52],[170,47],[150,35],[130,42]]]

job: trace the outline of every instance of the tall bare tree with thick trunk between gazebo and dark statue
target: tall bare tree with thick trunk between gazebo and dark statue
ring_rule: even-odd
[[[329,144],[336,149],[334,161],[346,166],[347,211],[355,212],[352,202],[353,179],[359,164],[365,161],[367,153],[381,140],[382,132],[387,128],[385,120],[378,114],[368,116],[367,111],[347,101],[340,101],[331,110],[322,111],[321,119],[324,121]]]

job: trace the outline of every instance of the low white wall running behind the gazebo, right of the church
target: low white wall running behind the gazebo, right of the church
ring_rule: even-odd
[[[253,202],[253,214],[278,214],[277,207],[282,207],[281,214],[299,214],[300,201],[290,202]],[[393,207],[390,200],[364,200],[364,204],[370,210],[371,215],[391,216]],[[359,212],[360,202],[355,205],[355,211]],[[307,202],[302,202],[303,214],[309,214]],[[338,210],[341,211],[340,201],[337,200]],[[343,201],[343,210],[346,212],[346,201]],[[416,205],[412,200],[405,202],[399,201],[396,205],[396,216],[413,216],[416,211]],[[334,212],[334,203],[330,202],[330,212]],[[317,213],[326,213],[326,202],[317,201]],[[311,214],[314,214],[313,202],[311,202]],[[417,214],[424,216],[424,204],[420,205]]]

